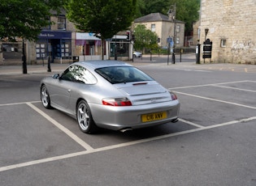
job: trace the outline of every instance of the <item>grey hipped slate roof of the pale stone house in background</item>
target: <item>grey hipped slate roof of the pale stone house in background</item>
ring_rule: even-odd
[[[169,21],[172,22],[167,15],[161,13],[151,13],[134,20],[134,23],[156,22],[156,21]],[[176,19],[176,22],[184,23]]]

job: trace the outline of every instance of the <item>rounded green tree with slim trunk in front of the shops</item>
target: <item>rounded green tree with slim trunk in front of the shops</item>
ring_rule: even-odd
[[[67,18],[83,32],[93,32],[103,41],[131,26],[137,0],[70,0]]]

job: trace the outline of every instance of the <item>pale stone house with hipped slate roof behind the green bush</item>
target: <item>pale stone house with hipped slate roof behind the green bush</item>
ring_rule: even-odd
[[[142,16],[141,18],[134,20],[134,27],[137,24],[144,24],[147,29],[155,32],[160,38],[161,47],[167,47],[167,38],[170,36],[174,38],[176,34],[176,47],[184,46],[184,22],[179,20],[173,20],[167,15],[160,13],[151,13],[150,15]],[[174,29],[176,27],[176,32]]]

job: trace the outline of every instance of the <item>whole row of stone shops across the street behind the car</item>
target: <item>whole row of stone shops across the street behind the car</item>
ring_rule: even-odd
[[[71,23],[65,15],[63,11],[60,15],[51,16],[49,25],[41,29],[35,42],[24,40],[28,65],[46,64],[48,60],[52,63],[70,63],[75,58],[76,61],[102,58],[102,41],[93,36],[93,33],[76,30],[74,23]],[[127,60],[128,56],[132,56],[132,49],[129,49],[132,44],[126,40],[125,33],[123,35],[114,36],[113,40],[103,43],[104,59],[113,58],[115,50],[117,50],[116,55],[119,59]],[[113,46],[114,49],[111,48]],[[0,66],[21,65],[23,62],[22,47],[21,38],[16,38],[16,42],[0,42]]]

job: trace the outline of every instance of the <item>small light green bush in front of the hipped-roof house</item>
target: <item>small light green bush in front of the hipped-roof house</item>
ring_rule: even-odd
[[[146,29],[145,25],[137,25],[137,27],[134,28],[134,36],[136,38],[134,43],[135,49],[142,51],[143,49],[158,48],[158,36],[156,33]]]

